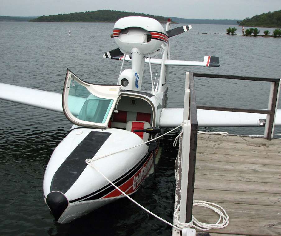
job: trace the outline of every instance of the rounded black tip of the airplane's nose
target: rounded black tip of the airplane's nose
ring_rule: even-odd
[[[46,197],[46,203],[55,220],[58,220],[69,204],[66,196],[59,191],[52,191]]]

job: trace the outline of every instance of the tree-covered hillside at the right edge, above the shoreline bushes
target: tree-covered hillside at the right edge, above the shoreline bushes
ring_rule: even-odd
[[[259,27],[281,27],[281,10],[275,12],[262,13],[261,15],[246,18],[240,22],[239,26],[259,26]]]

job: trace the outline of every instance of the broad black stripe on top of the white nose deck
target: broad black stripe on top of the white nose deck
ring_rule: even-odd
[[[108,132],[91,131],[58,168],[50,191],[66,193],[87,167],[85,160],[93,158],[110,135]]]

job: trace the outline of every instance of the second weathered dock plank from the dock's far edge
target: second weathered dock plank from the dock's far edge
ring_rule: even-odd
[[[197,152],[200,153],[216,153],[216,154],[228,154],[228,155],[240,155],[240,156],[253,156],[253,157],[279,157],[281,159],[281,151],[265,151],[265,150],[243,150],[243,149],[231,149],[227,147],[214,147],[204,146],[197,143]]]

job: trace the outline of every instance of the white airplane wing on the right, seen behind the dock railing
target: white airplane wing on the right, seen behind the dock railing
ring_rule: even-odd
[[[197,110],[198,127],[264,126],[265,119],[265,114]],[[182,121],[183,108],[163,108],[159,126],[175,127],[180,125]],[[275,126],[281,126],[281,109],[276,112]]]

